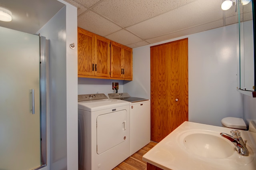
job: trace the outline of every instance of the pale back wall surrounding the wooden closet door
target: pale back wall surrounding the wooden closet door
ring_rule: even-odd
[[[224,117],[242,118],[242,95],[236,91],[236,25],[188,37],[189,121],[221,126]],[[124,92],[150,98],[150,46],[133,49],[133,81]]]

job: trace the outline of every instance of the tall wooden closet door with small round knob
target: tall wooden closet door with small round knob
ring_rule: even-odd
[[[188,121],[188,39],[150,47],[151,140]]]

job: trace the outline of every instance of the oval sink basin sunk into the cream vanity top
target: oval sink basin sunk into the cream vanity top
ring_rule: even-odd
[[[227,158],[234,154],[234,144],[220,135],[204,132],[190,133],[187,132],[183,135],[181,143],[192,154],[206,158]]]

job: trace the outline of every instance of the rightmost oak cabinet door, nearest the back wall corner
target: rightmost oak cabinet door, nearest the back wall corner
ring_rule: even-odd
[[[124,46],[123,74],[125,79],[132,79],[132,48]]]

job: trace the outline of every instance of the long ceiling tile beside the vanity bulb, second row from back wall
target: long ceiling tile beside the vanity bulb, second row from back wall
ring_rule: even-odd
[[[150,39],[222,20],[222,10],[216,5],[221,4],[221,0],[207,1],[207,4],[203,2],[205,0],[198,0],[126,29],[143,39]]]

